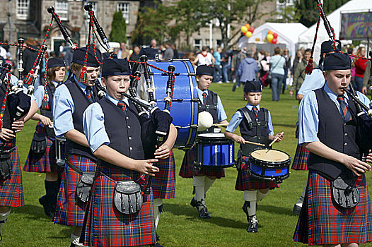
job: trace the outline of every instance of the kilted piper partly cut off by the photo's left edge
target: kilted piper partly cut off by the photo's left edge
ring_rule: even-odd
[[[11,75],[11,85],[17,85],[18,79]],[[24,88],[25,90],[25,88]],[[6,93],[6,83],[0,85],[0,99],[4,102]],[[11,169],[10,176],[4,178],[0,176],[0,241],[2,240],[1,229],[4,227],[6,219],[11,213],[11,207],[22,207],[25,203],[23,200],[23,186],[21,165],[18,156],[18,147],[16,146],[16,133],[21,131],[24,123],[28,121],[33,114],[37,112],[37,104],[35,98],[31,97],[31,107],[28,113],[21,119],[11,119],[11,113],[8,108],[8,101],[4,116],[1,121],[0,132],[0,173],[4,174],[4,170]],[[11,167],[6,168],[6,164]]]

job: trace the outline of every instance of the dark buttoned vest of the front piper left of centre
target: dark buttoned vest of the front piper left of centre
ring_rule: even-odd
[[[107,98],[98,101],[105,115],[105,130],[110,139],[109,147],[132,159],[144,159],[144,148],[141,142],[141,126],[136,107],[129,102],[127,114]],[[98,164],[104,167],[118,167],[99,160]],[[124,174],[136,180],[138,171],[122,169]]]

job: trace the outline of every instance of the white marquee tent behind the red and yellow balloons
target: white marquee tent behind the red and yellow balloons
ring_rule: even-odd
[[[249,43],[264,43],[269,30],[277,32],[277,44],[285,44],[289,49],[289,54],[294,57],[297,49],[298,35],[305,32],[307,28],[301,23],[265,23],[255,28],[250,38],[241,37],[238,46],[242,48]],[[269,44],[268,42],[266,43]],[[275,44],[272,45],[276,46]]]

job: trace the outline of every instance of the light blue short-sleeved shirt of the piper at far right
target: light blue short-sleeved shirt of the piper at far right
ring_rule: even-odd
[[[337,109],[339,109],[339,102],[337,96],[327,85],[324,87],[325,92],[330,97],[332,102],[335,102]],[[361,102],[369,105],[369,99],[361,92],[356,92]],[[349,97],[344,94],[345,102],[348,104]],[[301,100],[298,108],[298,143],[312,143],[318,141],[318,126],[319,126],[319,109],[318,102],[314,91],[309,92]]]

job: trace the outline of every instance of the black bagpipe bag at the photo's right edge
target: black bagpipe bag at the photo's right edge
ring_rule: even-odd
[[[367,114],[358,116],[356,143],[362,152],[368,152],[372,149],[372,118]]]

